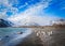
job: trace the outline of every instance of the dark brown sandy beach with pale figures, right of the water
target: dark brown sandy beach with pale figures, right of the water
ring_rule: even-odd
[[[31,28],[31,30],[34,33],[16,46],[65,46],[64,26],[48,26]]]

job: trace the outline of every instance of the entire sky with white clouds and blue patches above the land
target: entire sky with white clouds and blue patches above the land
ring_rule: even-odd
[[[18,22],[20,25],[29,22],[37,22],[41,26],[48,22],[49,25],[51,19],[65,18],[65,1],[0,0],[0,18],[9,19],[16,25]]]

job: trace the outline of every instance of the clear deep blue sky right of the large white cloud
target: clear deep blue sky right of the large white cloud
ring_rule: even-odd
[[[46,13],[55,14],[60,17],[65,17],[65,1],[64,0],[54,0],[51,2],[50,6],[46,9]]]

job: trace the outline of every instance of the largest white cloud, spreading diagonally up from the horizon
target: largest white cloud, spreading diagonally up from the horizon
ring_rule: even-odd
[[[8,18],[14,22],[15,26],[29,26],[30,24],[38,24],[39,26],[51,25],[51,20],[56,19],[56,16],[48,15],[44,13],[44,9],[49,6],[50,1],[40,2],[34,6],[30,6],[25,12],[11,16]]]

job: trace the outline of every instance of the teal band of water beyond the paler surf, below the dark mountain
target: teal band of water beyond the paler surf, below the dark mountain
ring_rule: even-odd
[[[0,36],[9,35],[18,31],[25,32],[25,28],[0,28]]]

